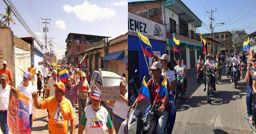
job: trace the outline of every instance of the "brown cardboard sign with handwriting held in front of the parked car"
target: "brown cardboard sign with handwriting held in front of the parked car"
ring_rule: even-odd
[[[120,101],[119,86],[101,86],[102,101]]]

